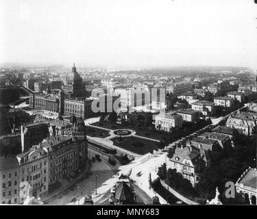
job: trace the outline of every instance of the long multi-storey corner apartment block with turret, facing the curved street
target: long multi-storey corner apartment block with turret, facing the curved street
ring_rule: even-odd
[[[86,168],[88,144],[84,133],[45,139],[42,149],[49,154],[49,186],[76,176]]]

